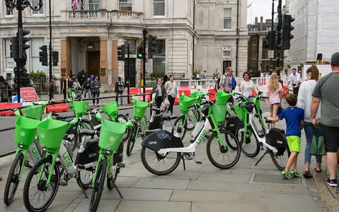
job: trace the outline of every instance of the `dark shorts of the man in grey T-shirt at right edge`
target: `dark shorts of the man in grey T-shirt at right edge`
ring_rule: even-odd
[[[326,152],[336,153],[339,148],[339,126],[326,126],[323,124],[321,126]]]

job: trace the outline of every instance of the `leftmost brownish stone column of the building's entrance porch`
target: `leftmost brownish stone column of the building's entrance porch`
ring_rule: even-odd
[[[61,40],[61,71],[71,76],[71,42],[67,38]]]

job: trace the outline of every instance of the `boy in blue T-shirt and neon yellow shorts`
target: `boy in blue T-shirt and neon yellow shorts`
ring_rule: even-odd
[[[284,175],[286,179],[291,179],[294,176],[301,177],[301,174],[297,171],[297,158],[301,148],[301,129],[304,128],[304,109],[296,106],[297,95],[292,93],[287,94],[286,101],[289,107],[282,110],[282,113],[278,117],[268,117],[268,120],[272,122],[279,122],[279,120],[284,118],[286,120],[286,139],[291,155],[289,155],[287,165],[285,170],[282,171],[282,175]],[[289,168],[292,165],[293,170],[289,172]]]

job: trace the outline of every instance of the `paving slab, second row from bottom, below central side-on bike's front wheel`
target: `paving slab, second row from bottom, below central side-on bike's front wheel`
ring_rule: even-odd
[[[174,190],[171,201],[239,202],[238,192]]]

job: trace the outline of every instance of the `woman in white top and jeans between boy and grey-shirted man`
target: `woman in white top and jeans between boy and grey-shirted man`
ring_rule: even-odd
[[[311,121],[311,101],[312,101],[312,92],[316,86],[316,81],[318,81],[319,71],[315,65],[309,67],[306,71],[307,81],[301,83],[298,93],[298,103],[297,107],[304,109],[305,114],[305,136],[306,136],[306,147],[305,147],[305,172],[304,177],[312,177],[309,170],[309,164],[311,163],[311,143],[314,136],[314,126]],[[318,112],[316,113],[316,119],[320,121],[320,110],[319,105]],[[320,126],[318,126],[318,129]],[[321,130],[321,129],[320,129]],[[316,135],[318,136],[318,135]],[[321,172],[321,155],[316,156],[316,172]]]

